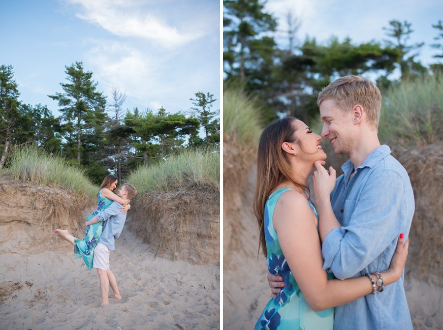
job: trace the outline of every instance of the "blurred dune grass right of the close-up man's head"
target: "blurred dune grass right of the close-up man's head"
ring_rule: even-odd
[[[383,95],[381,143],[425,146],[442,140],[443,76],[403,81]]]

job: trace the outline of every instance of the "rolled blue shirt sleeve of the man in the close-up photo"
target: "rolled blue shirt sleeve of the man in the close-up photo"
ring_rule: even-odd
[[[323,270],[330,269],[337,278],[345,279],[365,269],[383,252],[390,262],[406,224],[405,204],[405,186],[398,173],[372,173],[359,199],[344,203],[344,214],[350,214],[346,226],[333,229],[323,241]]]

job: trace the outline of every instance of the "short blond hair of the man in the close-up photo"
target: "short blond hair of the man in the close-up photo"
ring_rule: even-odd
[[[350,111],[360,104],[366,112],[368,123],[374,128],[379,127],[381,93],[371,80],[358,76],[338,78],[320,91],[317,105],[321,101],[333,98],[337,105],[345,111]]]

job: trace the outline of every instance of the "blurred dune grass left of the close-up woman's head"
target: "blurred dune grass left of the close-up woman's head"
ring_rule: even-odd
[[[257,145],[263,130],[258,108],[258,102],[243,90],[228,86],[223,91],[223,139],[236,139],[245,147]]]

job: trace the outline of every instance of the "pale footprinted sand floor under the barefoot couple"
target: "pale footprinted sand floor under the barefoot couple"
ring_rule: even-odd
[[[216,264],[156,258],[124,229],[110,257],[123,300],[101,308],[96,271],[54,244],[59,251],[1,255],[0,329],[219,329]]]

